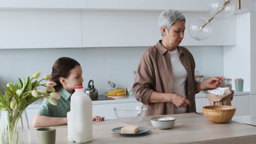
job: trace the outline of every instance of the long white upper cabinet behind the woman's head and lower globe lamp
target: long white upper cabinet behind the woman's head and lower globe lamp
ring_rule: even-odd
[[[83,47],[153,46],[161,39],[158,17],[160,12],[83,11]],[[236,45],[236,17],[213,21],[214,31],[206,40],[190,37],[189,23],[198,16],[210,14],[184,13],[186,27],[181,46]]]

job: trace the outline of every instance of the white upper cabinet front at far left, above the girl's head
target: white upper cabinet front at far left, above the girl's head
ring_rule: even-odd
[[[79,11],[0,11],[0,49],[82,47]]]

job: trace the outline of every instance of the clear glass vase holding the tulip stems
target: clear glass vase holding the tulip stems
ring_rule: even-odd
[[[30,143],[30,127],[26,110],[0,111],[0,143]]]

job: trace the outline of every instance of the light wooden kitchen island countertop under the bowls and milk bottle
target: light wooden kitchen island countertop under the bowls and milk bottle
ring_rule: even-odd
[[[93,122],[94,139],[89,143],[256,143],[256,127],[231,121],[216,124],[208,121],[203,115],[183,113],[165,115],[176,118],[172,129],[160,130],[152,127],[150,118],[134,125],[148,127],[146,135],[124,137],[111,130],[125,124],[118,119]],[[57,126],[56,143],[73,143],[67,139],[67,125]],[[36,128],[31,128],[31,143],[37,143]]]

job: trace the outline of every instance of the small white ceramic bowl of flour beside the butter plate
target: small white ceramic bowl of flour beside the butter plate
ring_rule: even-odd
[[[170,129],[175,123],[174,117],[153,117],[151,118],[153,127],[159,129]]]

